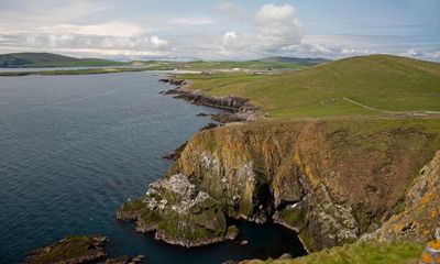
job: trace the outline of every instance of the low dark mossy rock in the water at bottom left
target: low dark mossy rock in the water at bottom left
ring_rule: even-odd
[[[79,264],[97,261],[106,255],[102,235],[67,237],[48,246],[35,250],[28,257],[28,264]]]

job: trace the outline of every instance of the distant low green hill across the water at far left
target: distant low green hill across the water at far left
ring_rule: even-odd
[[[124,65],[124,63],[99,58],[76,58],[52,53],[10,53],[0,55],[0,68],[92,67],[117,65]]]

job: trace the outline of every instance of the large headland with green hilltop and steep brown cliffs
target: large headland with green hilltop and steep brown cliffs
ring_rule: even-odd
[[[138,231],[195,246],[233,239],[228,219],[273,221],[296,230],[309,252],[361,240],[421,249],[432,239],[439,64],[373,55],[169,82],[195,103],[256,116],[196,134],[145,197],[125,202],[118,219],[135,220]]]

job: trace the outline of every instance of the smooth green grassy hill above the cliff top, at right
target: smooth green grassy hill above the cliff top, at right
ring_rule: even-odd
[[[179,77],[208,95],[250,98],[274,118],[383,113],[343,98],[388,111],[440,111],[440,64],[388,55],[345,58],[275,76]]]

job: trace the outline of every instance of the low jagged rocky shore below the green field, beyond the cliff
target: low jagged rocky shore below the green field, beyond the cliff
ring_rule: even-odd
[[[194,105],[223,109],[224,112],[212,116],[213,120],[221,123],[254,121],[262,113],[261,109],[252,106],[245,98],[207,96],[201,91],[188,88],[187,81],[182,79],[164,78],[160,81],[176,86],[176,88],[169,89],[163,95],[170,95],[176,99],[184,99]]]

